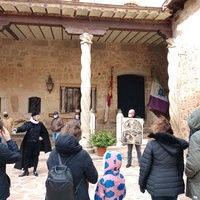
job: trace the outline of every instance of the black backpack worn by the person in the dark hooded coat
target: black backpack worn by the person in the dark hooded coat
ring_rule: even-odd
[[[72,155],[73,156],[73,155]],[[63,164],[58,153],[59,165],[53,166],[49,172],[46,180],[46,197],[45,200],[75,200],[76,193],[82,182],[79,182],[75,188],[73,183],[73,176],[67,162],[72,157],[70,156]]]

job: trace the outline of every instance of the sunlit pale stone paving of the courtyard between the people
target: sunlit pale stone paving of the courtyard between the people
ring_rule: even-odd
[[[116,148],[115,148],[116,150]],[[127,195],[124,200],[151,200],[150,195],[145,192],[144,194],[140,192],[138,187],[138,174],[139,166],[137,160],[133,158],[133,165],[130,168],[126,168],[126,147],[117,148],[119,152],[122,153],[124,158],[123,165],[121,168],[121,173],[124,174],[127,187]],[[135,149],[133,150],[135,155]],[[11,178],[11,195],[7,200],[44,200],[45,196],[45,180],[47,177],[46,159],[49,153],[41,153],[38,165],[38,177],[35,177],[32,173],[32,168],[29,170],[29,176],[18,177],[22,171],[14,169],[14,165],[7,165],[7,174]],[[96,155],[96,153],[91,154],[93,162],[98,170],[99,177],[102,175],[102,157]],[[91,200],[94,199],[94,191],[96,185],[89,185],[89,193]],[[84,200],[84,199],[83,199]],[[184,195],[180,195],[178,200],[189,200]]]

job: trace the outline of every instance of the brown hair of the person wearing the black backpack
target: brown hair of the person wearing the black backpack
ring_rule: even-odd
[[[80,123],[76,122],[76,121],[72,121],[72,122],[66,124],[62,128],[61,134],[63,134],[63,135],[72,134],[80,141],[81,140],[81,136],[82,136],[82,130],[81,130]]]

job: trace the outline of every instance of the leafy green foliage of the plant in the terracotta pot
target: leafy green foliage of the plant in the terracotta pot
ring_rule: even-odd
[[[116,142],[112,132],[97,131],[91,135],[91,143],[95,147],[108,147]]]

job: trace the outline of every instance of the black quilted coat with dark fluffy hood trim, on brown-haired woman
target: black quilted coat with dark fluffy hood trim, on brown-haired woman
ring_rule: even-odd
[[[140,163],[139,185],[153,196],[184,193],[183,150],[188,142],[169,133],[149,134]]]

